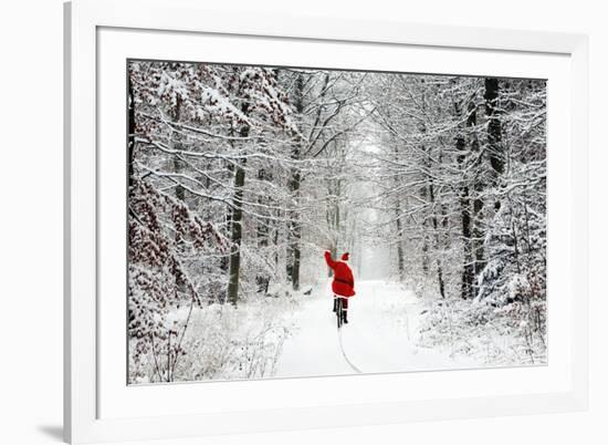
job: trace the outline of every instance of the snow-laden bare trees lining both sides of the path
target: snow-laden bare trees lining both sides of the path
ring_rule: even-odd
[[[542,80],[132,61],[129,382],[242,371],[239,311],[324,282],[325,249],[427,299],[427,340],[457,308],[546,360],[545,132]]]

